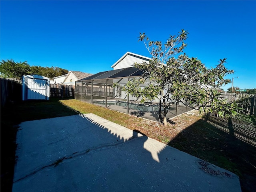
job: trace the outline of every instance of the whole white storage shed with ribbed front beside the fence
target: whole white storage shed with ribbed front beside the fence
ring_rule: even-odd
[[[41,75],[22,76],[22,100],[49,100],[50,79]]]

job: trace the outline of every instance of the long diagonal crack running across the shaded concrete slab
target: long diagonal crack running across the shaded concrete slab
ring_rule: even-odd
[[[56,166],[58,166],[58,164],[62,163],[64,160],[71,159],[71,158],[76,158],[76,157],[83,156],[85,154],[89,154],[91,152],[103,150],[103,149],[106,149],[106,148],[120,146],[122,144],[125,144],[126,142],[130,142],[131,140],[141,139],[141,138],[143,138],[143,137],[142,136],[140,136],[140,137],[132,136],[131,138],[129,138],[126,141],[120,140],[119,142],[114,142],[114,143],[109,143],[109,144],[101,144],[101,145],[98,145],[98,146],[96,146],[94,148],[88,148],[88,149],[86,149],[86,150],[84,150],[82,152],[74,152],[70,156],[64,156],[62,158],[59,158],[58,160],[56,160],[52,164],[49,164],[49,165],[43,166],[41,168],[38,168],[38,169],[34,170],[33,172],[31,172],[30,174],[27,174],[26,176],[24,176],[22,178],[19,178],[17,180],[14,180],[13,183],[18,182],[20,180],[23,180],[23,179],[25,179],[25,178],[27,178],[29,176],[32,176],[32,175],[36,174],[37,172],[39,172],[41,170],[44,170],[45,168],[52,167],[52,166],[56,167]]]

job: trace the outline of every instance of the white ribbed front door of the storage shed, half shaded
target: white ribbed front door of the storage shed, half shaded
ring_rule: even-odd
[[[46,80],[28,78],[28,99],[45,100],[47,96]]]

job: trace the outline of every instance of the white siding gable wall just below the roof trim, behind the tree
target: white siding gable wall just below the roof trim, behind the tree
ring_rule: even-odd
[[[142,63],[142,62],[148,62],[148,60],[145,60],[138,56],[128,54],[116,66],[114,66],[114,70],[133,67],[135,62]]]

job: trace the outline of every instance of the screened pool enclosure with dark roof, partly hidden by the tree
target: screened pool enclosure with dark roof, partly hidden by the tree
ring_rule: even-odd
[[[140,99],[120,90],[119,86],[113,87],[113,83],[124,86],[129,80],[140,78],[142,74],[143,72],[135,67],[99,72],[75,82],[75,99],[158,121],[160,114],[163,115],[163,107],[160,108],[158,99],[145,106],[140,103]],[[144,85],[140,86],[144,88]],[[175,104],[170,107],[167,118],[189,110],[192,110],[192,108],[187,105]]]

